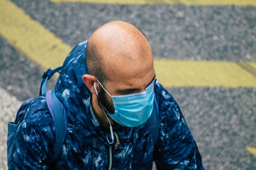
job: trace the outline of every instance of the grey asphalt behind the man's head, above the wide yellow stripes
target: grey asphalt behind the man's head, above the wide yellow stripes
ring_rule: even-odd
[[[124,20],[146,34],[156,58],[256,61],[254,6],[13,2],[70,46]]]

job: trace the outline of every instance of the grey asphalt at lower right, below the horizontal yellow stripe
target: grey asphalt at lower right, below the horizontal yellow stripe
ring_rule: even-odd
[[[205,169],[256,169],[256,89],[168,88],[186,118]]]

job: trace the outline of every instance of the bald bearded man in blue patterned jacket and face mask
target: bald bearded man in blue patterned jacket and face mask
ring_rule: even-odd
[[[41,96],[19,110],[26,116],[9,169],[152,169],[153,161],[157,169],[204,169],[178,104],[156,80],[150,44],[134,25],[110,22],[79,43],[55,94],[67,111],[58,160],[52,162],[56,132]]]

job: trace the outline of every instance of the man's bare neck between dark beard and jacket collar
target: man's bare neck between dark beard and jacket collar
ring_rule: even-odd
[[[100,107],[100,104],[98,102],[97,96],[95,96],[93,94],[92,94],[92,108],[93,108],[93,112],[95,113],[95,116],[96,116],[97,120],[100,123],[100,126],[103,129],[106,129],[106,130],[109,129],[108,118],[109,118],[109,121],[110,121],[112,126],[116,125],[116,123],[110,117],[108,117],[108,115],[105,115],[104,111]],[[106,118],[106,116],[108,118]]]

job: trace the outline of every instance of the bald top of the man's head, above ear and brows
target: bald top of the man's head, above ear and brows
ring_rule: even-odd
[[[132,76],[152,66],[152,50],[145,35],[127,22],[110,22],[93,32],[86,49],[89,74],[106,78]],[[127,74],[131,72],[131,74]]]

